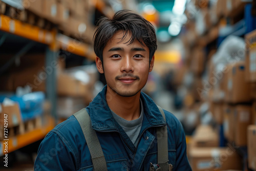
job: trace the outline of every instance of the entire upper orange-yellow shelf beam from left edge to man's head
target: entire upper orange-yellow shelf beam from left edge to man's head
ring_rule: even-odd
[[[41,29],[2,14],[0,14],[0,30],[49,45],[54,51],[61,48],[91,60],[96,58],[92,46],[88,44],[62,34],[56,35],[55,31]]]

